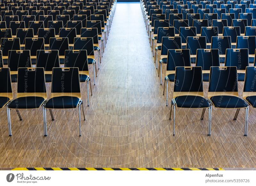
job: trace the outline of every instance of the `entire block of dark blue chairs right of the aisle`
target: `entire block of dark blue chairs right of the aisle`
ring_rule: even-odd
[[[168,82],[174,82],[171,102],[171,112],[172,107],[174,110],[173,135],[175,134],[175,107],[203,108],[201,119],[204,118],[205,110],[208,108],[208,135],[211,135],[213,105],[215,108],[237,109],[234,117],[235,120],[240,108],[245,108],[244,136],[247,136],[249,105],[256,107],[256,99],[253,100],[253,92],[256,89],[254,90],[252,81],[256,75],[256,68],[249,67],[249,63],[254,63],[255,60],[256,34],[253,34],[252,31],[250,33],[252,35],[243,36],[240,33],[241,26],[228,27],[228,25],[223,26],[223,32],[220,33],[218,31],[219,26],[214,25],[209,27],[207,25],[209,19],[206,19],[206,21],[192,19],[192,26],[189,26],[188,20],[174,19],[173,24],[177,22],[179,25],[179,23],[186,22],[186,24],[180,24],[175,28],[173,25],[170,25],[168,19],[165,19],[165,14],[163,15],[163,19],[155,19],[158,17],[158,14],[151,14],[150,20],[150,16],[148,16],[148,12],[146,11],[147,8],[145,7],[145,3],[147,4],[147,2],[154,2],[154,4],[159,6],[159,3],[166,1],[141,1],[141,8],[146,20],[145,24],[149,34],[149,41],[152,41],[152,52],[155,49],[156,68],[158,50],[161,50],[158,76],[160,70],[162,74],[162,64],[166,64],[166,75],[164,77],[164,91],[166,83],[166,106],[168,105]],[[174,5],[175,2],[170,4]],[[163,11],[159,8],[152,10]],[[175,15],[169,14],[169,17]],[[216,19],[216,22],[221,21],[220,19]],[[199,29],[194,25],[195,22],[197,22]],[[251,26],[247,27],[247,33],[249,33],[249,29],[253,30],[255,28]],[[175,32],[176,30],[178,32]],[[195,67],[192,67],[191,63],[195,63]],[[253,71],[253,73],[249,73],[249,70]],[[204,98],[203,81],[209,82],[208,99]],[[244,99],[238,97],[238,81],[245,82]],[[251,91],[249,90],[249,86],[252,86]]]

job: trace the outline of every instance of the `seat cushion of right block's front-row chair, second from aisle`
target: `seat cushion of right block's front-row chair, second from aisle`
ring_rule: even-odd
[[[216,108],[246,108],[248,104],[236,96],[212,96],[211,101]]]

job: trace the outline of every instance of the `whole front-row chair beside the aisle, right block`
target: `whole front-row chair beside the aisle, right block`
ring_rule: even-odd
[[[204,118],[205,109],[210,110],[210,103],[204,98],[203,77],[201,67],[176,67],[173,88],[173,136],[175,135],[175,110],[178,108],[203,108],[201,120]],[[172,105],[170,117],[172,114]],[[211,115],[209,115],[211,116]],[[209,121],[211,118],[209,117]]]

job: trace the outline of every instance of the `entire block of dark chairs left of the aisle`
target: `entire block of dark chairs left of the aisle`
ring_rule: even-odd
[[[51,0],[51,2],[48,1],[48,3],[60,4],[64,2],[64,0],[63,2],[61,0],[57,1],[58,0]],[[86,3],[86,1],[83,2],[83,0],[68,1],[69,2],[66,2],[65,0],[65,3]],[[90,1],[91,0],[89,0],[89,2]],[[103,2],[106,1],[104,0],[102,3]],[[46,0],[44,2],[40,1],[40,4],[41,3],[46,3]],[[27,1],[26,4],[28,4]],[[31,2],[30,4],[33,3]],[[36,3],[34,2],[34,4]],[[99,5],[100,2],[98,0],[93,0],[93,4]],[[99,43],[101,42],[101,47],[104,51],[105,46],[103,38],[105,39],[105,43],[107,39],[106,35],[103,37],[100,33],[106,32],[105,30],[110,30],[115,10],[116,0],[111,0],[111,6],[108,12],[109,15],[107,19],[103,19],[103,25],[102,20],[97,18],[98,15],[95,16],[92,13],[92,15],[88,15],[85,20],[81,18],[82,20],[77,21],[73,20],[73,18],[80,17],[80,15],[75,14],[72,17],[72,20],[68,19],[66,21],[66,27],[63,25],[65,22],[63,20],[52,21],[52,25],[61,23],[62,26],[60,28],[57,26],[54,28],[52,25],[49,26],[51,23],[49,20],[47,22],[49,28],[44,28],[44,26],[37,28],[35,26],[35,32],[30,22],[37,24],[38,22],[41,22],[41,20],[23,20],[18,22],[25,24],[25,27],[17,26],[15,34],[12,33],[12,30],[15,30],[12,21],[10,21],[9,28],[6,28],[5,26],[0,29],[0,76],[4,81],[4,85],[0,89],[0,103],[1,108],[7,108],[9,136],[12,136],[10,109],[15,109],[19,119],[22,120],[19,109],[40,107],[43,108],[44,136],[47,136],[47,108],[50,111],[52,120],[54,120],[52,109],[78,108],[79,136],[81,136],[81,107],[84,120],[85,114],[81,98],[80,83],[87,83],[87,105],[89,106],[89,92],[91,89],[92,95],[92,88],[88,65],[93,66],[95,85],[95,73],[97,77],[97,67],[94,51],[98,52],[99,69],[102,56],[102,53],[100,54]],[[104,11],[106,11],[106,9]],[[49,11],[47,12],[49,13]],[[8,15],[5,15],[5,18],[6,16]],[[60,17],[61,16],[62,15],[60,15]],[[101,14],[99,14],[99,16],[104,17],[104,15],[101,16]],[[46,17],[48,17],[48,15]],[[64,15],[64,17],[66,17],[66,15]],[[82,15],[81,17],[84,16]],[[92,18],[95,18],[95,20],[92,20]],[[85,27],[83,25],[81,28],[76,26],[77,23],[80,24],[84,21]],[[18,24],[18,22],[15,23]],[[44,24],[44,21],[42,22]],[[6,21],[2,21],[1,23],[6,25]],[[90,23],[93,24],[90,25]],[[27,24],[31,27],[27,28]],[[67,25],[69,25],[68,28]],[[79,32],[77,32],[78,29],[80,30]],[[15,96],[16,98],[14,98],[12,93],[12,83],[17,83],[17,94],[15,93],[17,95]],[[51,96],[48,98],[46,93],[46,83],[51,83],[52,86]]]

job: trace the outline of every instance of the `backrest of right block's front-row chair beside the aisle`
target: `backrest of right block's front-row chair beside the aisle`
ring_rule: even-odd
[[[202,67],[177,66],[175,69],[173,98],[183,95],[204,97]]]

